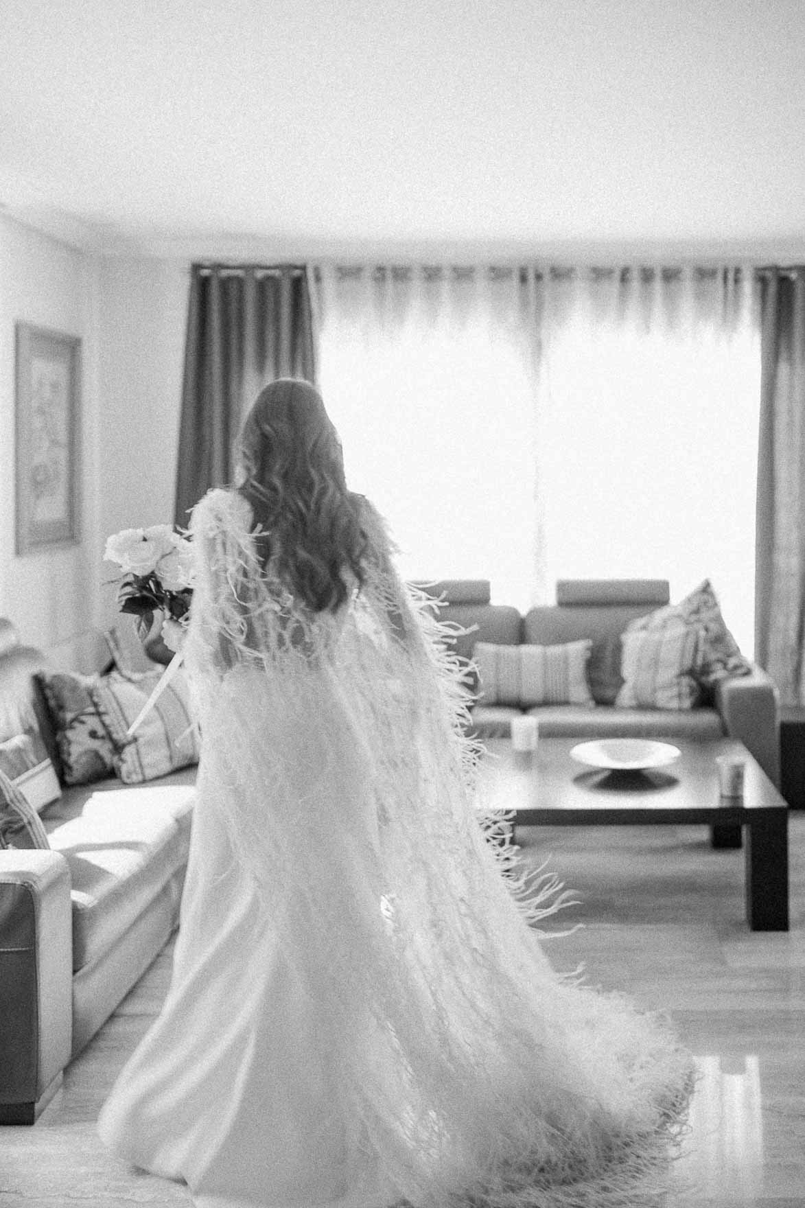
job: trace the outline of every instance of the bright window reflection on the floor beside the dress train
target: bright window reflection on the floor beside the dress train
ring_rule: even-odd
[[[764,1183],[760,1061],[696,1057],[696,1068],[679,1173],[699,1196],[751,1203]]]

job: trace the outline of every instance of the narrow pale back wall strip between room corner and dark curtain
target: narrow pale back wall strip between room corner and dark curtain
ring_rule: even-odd
[[[173,522],[189,280],[178,261],[99,263],[102,545],[122,528]],[[114,588],[103,588],[99,622],[115,616]]]

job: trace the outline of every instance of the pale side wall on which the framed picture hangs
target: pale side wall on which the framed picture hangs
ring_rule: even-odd
[[[97,257],[0,215],[0,615],[41,647],[81,647],[97,609]],[[15,324],[82,341],[81,539],[15,553]]]

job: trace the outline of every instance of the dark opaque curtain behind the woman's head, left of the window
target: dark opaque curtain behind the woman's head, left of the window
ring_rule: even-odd
[[[193,265],[187,307],[175,522],[230,482],[241,420],[266,383],[315,381],[303,267]]]

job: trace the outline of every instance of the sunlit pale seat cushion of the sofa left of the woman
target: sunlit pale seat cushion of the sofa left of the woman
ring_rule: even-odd
[[[195,768],[68,789],[42,817],[73,882],[73,968],[92,964],[187,861]]]

